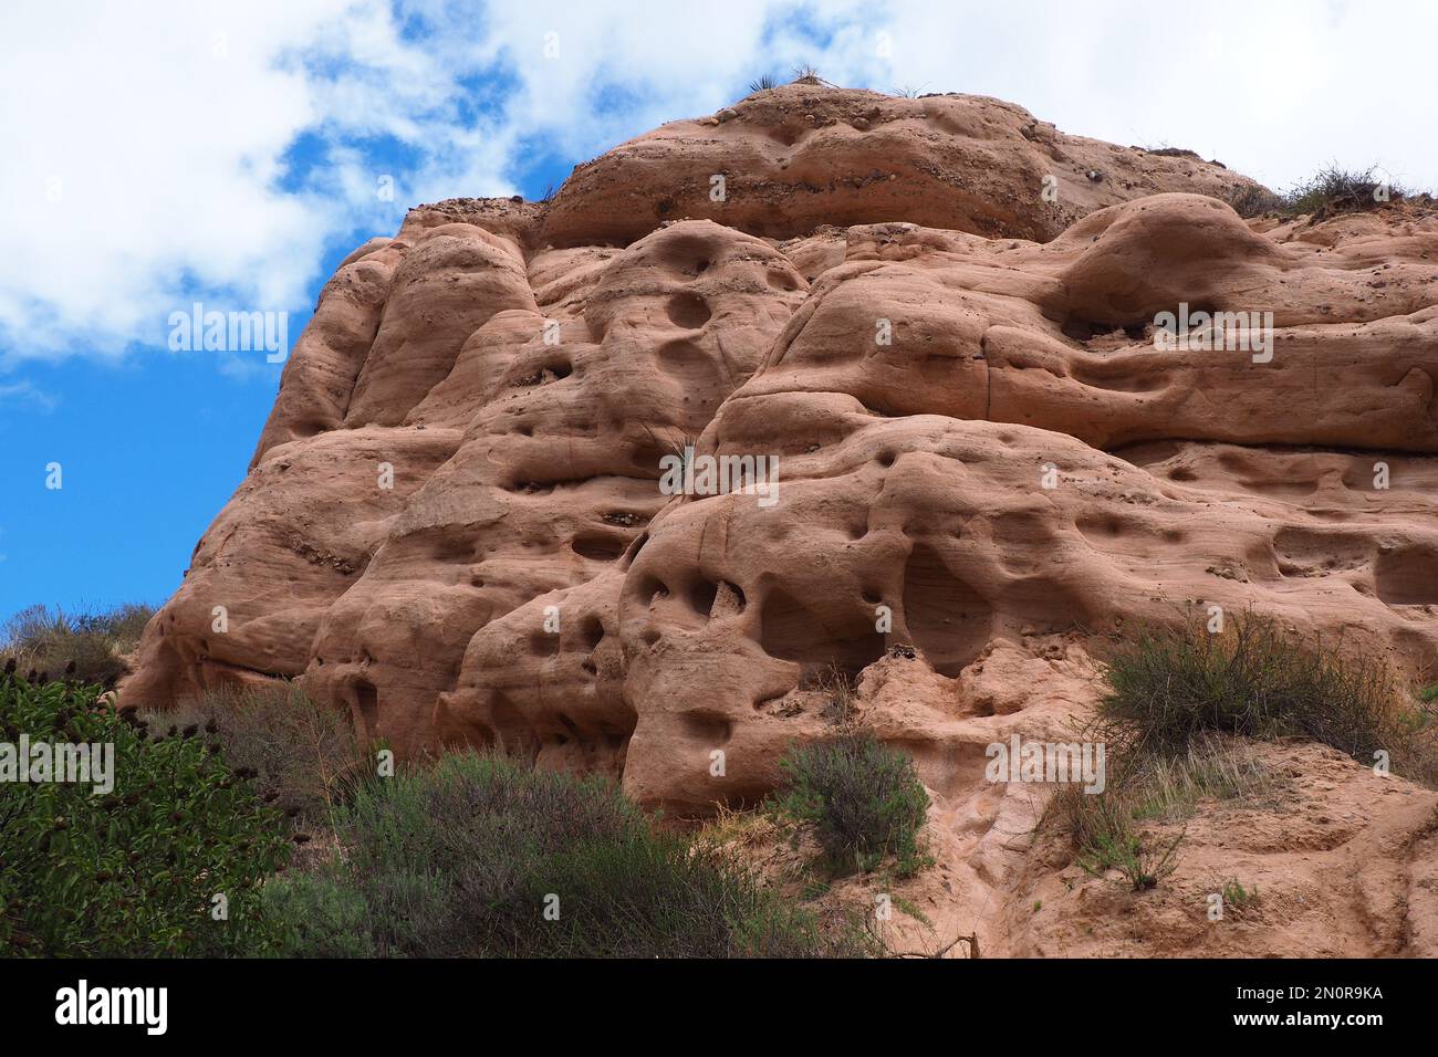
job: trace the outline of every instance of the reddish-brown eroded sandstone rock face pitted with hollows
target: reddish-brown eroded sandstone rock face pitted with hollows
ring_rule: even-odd
[[[703,813],[833,729],[837,669],[995,884],[1028,808],[984,746],[1089,706],[1044,686],[1080,633],[1252,608],[1438,669],[1438,219],[1244,223],[1242,183],[794,85],[548,204],[416,209],[326,285],[122,693],[302,676],[403,752]],[[1271,334],[1158,348],[1181,306]],[[660,486],[726,457],[777,463]]]

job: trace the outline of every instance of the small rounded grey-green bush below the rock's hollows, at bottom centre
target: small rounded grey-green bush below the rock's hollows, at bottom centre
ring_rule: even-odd
[[[779,767],[785,787],[771,805],[814,827],[833,871],[871,870],[889,854],[899,876],[925,866],[919,831],[929,794],[909,756],[858,732],[794,748]]]

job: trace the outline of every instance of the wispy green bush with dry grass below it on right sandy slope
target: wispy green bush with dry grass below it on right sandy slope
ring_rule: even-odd
[[[1087,736],[1107,746],[1107,785],[1096,795],[1060,788],[1048,817],[1086,870],[1116,869],[1135,890],[1172,873],[1182,844],[1182,833],[1163,837],[1145,823],[1280,785],[1245,739],[1311,738],[1362,764],[1389,759],[1421,781],[1438,777],[1432,716],[1383,664],[1260,614],[1237,616],[1222,633],[1201,621],[1139,628],[1113,644],[1104,674]]]

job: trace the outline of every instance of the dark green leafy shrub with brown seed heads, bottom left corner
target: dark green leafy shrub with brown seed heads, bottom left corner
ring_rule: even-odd
[[[0,953],[270,949],[259,886],[286,860],[283,815],[200,732],[152,738],[98,693],[0,674],[0,741],[13,751],[22,735],[114,746],[108,792],[98,781],[0,784]]]

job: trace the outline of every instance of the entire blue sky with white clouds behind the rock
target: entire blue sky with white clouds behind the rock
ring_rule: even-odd
[[[1425,0],[6,0],[3,24],[0,620],[162,600],[243,477],[280,368],[170,351],[171,312],[283,311],[293,342],[406,206],[539,197],[761,73],[995,95],[1276,188],[1329,163],[1438,187]]]

